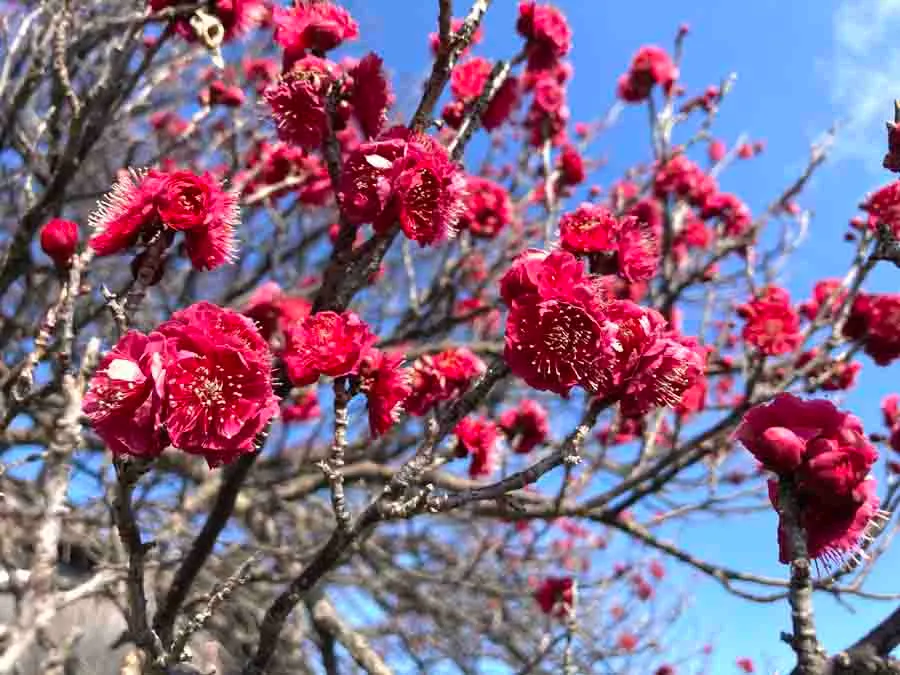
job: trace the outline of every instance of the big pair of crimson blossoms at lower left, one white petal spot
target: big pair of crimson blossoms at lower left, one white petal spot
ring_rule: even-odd
[[[200,302],[149,335],[125,334],[83,408],[114,454],[151,458],[171,445],[217,466],[256,450],[278,400],[272,353],[253,322]]]

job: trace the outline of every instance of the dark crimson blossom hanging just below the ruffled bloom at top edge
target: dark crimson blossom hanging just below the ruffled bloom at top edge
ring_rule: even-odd
[[[278,127],[278,138],[306,150],[321,147],[327,131],[326,99],[336,66],[305,56],[263,93]]]

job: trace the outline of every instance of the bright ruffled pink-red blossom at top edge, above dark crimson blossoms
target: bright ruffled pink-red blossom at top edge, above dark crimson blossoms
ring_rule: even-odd
[[[327,52],[359,36],[350,13],[326,1],[295,0],[290,9],[276,7],[275,42],[285,51],[285,66],[307,50]]]

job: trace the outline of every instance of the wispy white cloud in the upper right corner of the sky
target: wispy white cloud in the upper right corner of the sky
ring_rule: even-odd
[[[884,122],[900,98],[900,0],[842,0],[823,74],[842,117],[835,154],[880,172]]]

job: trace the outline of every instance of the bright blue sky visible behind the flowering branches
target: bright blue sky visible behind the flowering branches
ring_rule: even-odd
[[[392,70],[400,101],[415,97],[417,83],[429,67],[425,36],[434,30],[437,2],[346,0],[344,4],[360,22],[359,46],[377,50]],[[464,13],[468,4],[455,0],[456,14]],[[520,44],[513,28],[517,4],[495,0],[480,54],[507,57],[515,53]],[[815,211],[811,236],[783,281],[795,297],[802,298],[816,279],[845,271],[850,255],[842,241],[846,223],[855,215],[861,197],[890,179],[880,161],[884,120],[891,114],[893,98],[900,97],[900,77],[894,77],[900,76],[900,46],[890,40],[900,28],[900,2],[558,0],[556,4],[574,28],[573,120],[593,118],[607,109],[613,102],[615,78],[637,47],[651,42],[669,47],[677,26],[690,23],[683,83],[699,92],[729,72],[738,74],[716,135],[730,143],[747,133],[767,142],[761,157],[737,164],[721,181],[754,209],[797,174],[812,140],[836,120],[843,121],[834,160],[800,200]],[[608,185],[622,168],[646,160],[646,139],[645,111],[627,109],[618,127],[598,145],[609,164],[593,181]],[[869,288],[896,290],[896,278],[890,270],[881,270]],[[861,386],[848,397],[846,406],[863,418],[867,429],[880,429],[878,402],[891,391],[897,372],[897,366],[877,369],[864,362]],[[774,514],[765,514],[737,524],[698,525],[680,533],[679,542],[714,562],[779,575],[785,568],[775,561],[774,530]],[[872,589],[898,590],[900,585],[891,573],[898,561],[896,553],[882,560],[880,572],[871,578]],[[757,672],[789,670],[791,654],[778,641],[779,631],[789,627],[786,604],[739,600],[689,570],[675,573],[674,562],[667,566],[674,573],[674,583],[684,591],[690,588],[694,596],[689,625],[698,635],[714,636],[710,672],[737,672],[734,660],[738,656],[752,657]],[[830,598],[817,596],[820,635],[829,650],[849,644],[893,609],[890,603],[848,602],[855,614]]]

